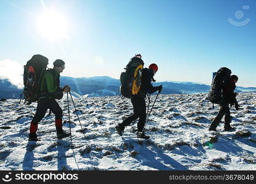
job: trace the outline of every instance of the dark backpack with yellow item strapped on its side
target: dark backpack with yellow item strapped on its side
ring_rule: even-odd
[[[143,66],[143,60],[134,56],[124,68],[126,71],[120,75],[120,93],[123,98],[132,98],[140,91]]]

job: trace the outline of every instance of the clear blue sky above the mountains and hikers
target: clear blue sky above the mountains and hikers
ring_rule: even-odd
[[[66,37],[40,33],[38,17],[47,9],[61,13]],[[0,12],[0,61],[23,66],[40,53],[49,67],[63,59],[65,76],[119,79],[140,53],[145,67],[158,64],[158,81],[209,84],[212,72],[225,66],[238,75],[237,85],[256,86],[253,0],[2,0]],[[228,18],[249,23],[236,26]]]

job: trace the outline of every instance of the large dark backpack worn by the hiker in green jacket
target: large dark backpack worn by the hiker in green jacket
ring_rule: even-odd
[[[42,75],[46,71],[48,59],[42,55],[34,55],[24,66],[23,84],[25,102],[35,102],[39,99]]]

